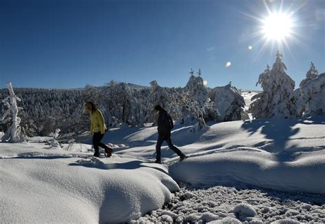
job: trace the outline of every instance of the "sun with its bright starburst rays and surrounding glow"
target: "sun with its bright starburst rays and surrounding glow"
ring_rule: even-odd
[[[291,51],[293,45],[304,46],[304,42],[300,40],[304,38],[301,33],[303,23],[298,12],[304,8],[306,1],[296,4],[284,0],[261,0],[260,2],[258,7],[252,5],[251,12],[242,12],[245,17],[254,22],[248,25],[242,35],[243,42],[250,42],[248,50],[252,51],[254,46],[258,58],[266,50],[282,53],[286,51],[293,54]],[[263,8],[264,10],[261,10]]]

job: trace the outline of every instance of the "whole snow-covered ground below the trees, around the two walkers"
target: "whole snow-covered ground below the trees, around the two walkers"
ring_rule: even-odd
[[[93,158],[88,134],[62,149],[0,143],[1,222],[325,223],[324,127],[320,116],[176,126],[189,158],[164,145],[163,164],[156,127],[110,130],[112,158]]]

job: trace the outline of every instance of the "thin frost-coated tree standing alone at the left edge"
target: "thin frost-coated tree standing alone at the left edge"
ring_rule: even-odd
[[[18,116],[20,108],[17,106],[16,101],[21,101],[19,97],[14,94],[14,90],[12,89],[11,82],[7,83],[7,87],[9,90],[9,96],[2,100],[3,103],[8,107],[8,110],[5,111],[3,116],[1,116],[1,121],[12,121],[12,125],[7,129],[5,134],[2,137],[2,142],[23,142],[26,140],[25,136],[21,133],[21,119]],[[8,102],[9,101],[9,102]],[[12,117],[10,117],[10,114]]]

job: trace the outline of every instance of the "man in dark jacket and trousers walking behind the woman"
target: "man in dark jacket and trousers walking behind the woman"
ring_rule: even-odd
[[[186,155],[184,155],[180,151],[180,149],[176,148],[173,143],[171,143],[171,129],[173,129],[173,120],[171,119],[171,116],[160,105],[156,105],[154,110],[158,112],[158,140],[156,144],[156,163],[161,163],[160,147],[161,145],[163,145],[164,140],[167,142],[169,149],[173,150],[178,156],[180,156],[180,160],[184,160],[186,158]]]

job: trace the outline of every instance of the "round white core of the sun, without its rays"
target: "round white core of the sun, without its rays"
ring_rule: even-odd
[[[293,22],[289,14],[271,13],[263,20],[262,33],[267,40],[285,41],[292,34]]]

